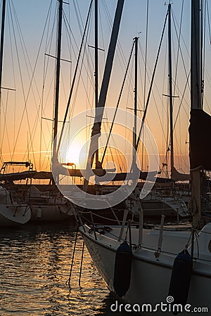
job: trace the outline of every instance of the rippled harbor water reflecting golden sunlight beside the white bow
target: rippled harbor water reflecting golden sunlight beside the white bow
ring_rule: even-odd
[[[0,315],[128,315],[111,312],[115,298],[77,238],[73,224],[27,224],[0,228]],[[131,314],[131,313],[130,313]]]

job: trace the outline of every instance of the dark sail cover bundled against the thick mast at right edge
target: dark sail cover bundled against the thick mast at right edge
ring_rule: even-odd
[[[191,109],[189,126],[191,169],[211,170],[211,117],[200,109]]]

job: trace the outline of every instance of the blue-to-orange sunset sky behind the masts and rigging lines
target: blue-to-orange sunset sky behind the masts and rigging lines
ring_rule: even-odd
[[[68,2],[68,1],[66,1]],[[64,117],[72,82],[73,72],[82,39],[84,23],[87,18],[89,0],[71,0],[70,4],[63,4],[63,38],[60,74],[60,110],[59,119]],[[146,11],[148,2],[148,44],[147,44],[147,74],[145,79],[144,58],[146,51]],[[99,55],[99,90],[103,75],[103,67],[108,51],[111,23],[115,13],[115,0],[98,0],[98,46],[104,51],[98,51]],[[168,3],[168,2],[167,2]],[[178,43],[176,41],[181,19],[181,8],[183,4],[183,18],[181,24],[181,43],[183,51],[179,52],[177,58]],[[210,4],[209,4],[210,5]],[[172,68],[175,78],[175,68],[178,60],[176,86],[174,88],[174,119],[177,117],[175,127],[174,152],[178,169],[188,171],[188,113],[189,113],[189,89],[186,84],[186,75],[189,73],[189,46],[190,46],[190,6],[189,0],[174,0],[172,4]],[[1,4],[2,7],[2,4]],[[58,1],[6,1],[6,29],[4,44],[4,66],[2,75],[2,87],[12,88],[15,91],[2,89],[1,93],[1,162],[11,159],[31,159],[37,170],[49,170],[51,164],[52,146],[52,121],[53,98],[55,91],[55,59],[48,55],[56,54],[56,18]],[[76,11],[77,10],[77,11]],[[71,112],[69,118],[79,112],[94,107],[94,10],[91,13],[89,32],[87,35],[86,53],[84,62],[80,62],[81,76],[77,75],[76,86],[71,101]],[[158,45],[164,25],[167,5],[162,0],[125,0],[122,22],[120,26],[119,41],[115,54],[113,72],[108,90],[106,105],[115,107],[120,94],[120,88],[124,78],[124,72],[129,59],[134,37],[139,37],[139,118],[143,116],[143,103],[146,101],[150,85]],[[54,22],[53,22],[54,21]],[[177,33],[174,30],[177,27]],[[15,32],[15,35],[14,35]],[[210,34],[207,31],[206,37]],[[21,38],[21,41],[20,41]],[[23,42],[24,40],[24,42]],[[210,53],[210,47],[207,48]],[[206,55],[207,56],[207,55]],[[67,60],[71,60],[68,62]],[[207,60],[206,60],[207,61]],[[205,68],[205,110],[209,112],[210,100],[210,78],[207,77]],[[146,124],[151,129],[158,144],[161,162],[164,162],[167,151],[167,27],[162,43],[162,50],[158,62],[158,69],[153,85],[153,94],[149,105]],[[144,82],[146,81],[146,92],[144,93]],[[184,88],[186,86],[186,91]],[[129,76],[124,87],[120,107],[132,112],[128,108],[134,106],[134,58],[129,67]],[[183,97],[184,95],[184,97]],[[182,101],[182,103],[181,103]],[[177,115],[177,112],[179,114]],[[93,111],[94,115],[94,111]],[[41,119],[42,117],[42,119]],[[75,157],[70,160],[77,164],[77,151],[90,137],[93,119],[87,117],[89,129],[82,131],[77,136],[77,145],[72,148]],[[133,122],[125,121],[132,129]],[[107,124],[108,125],[108,124]],[[103,121],[106,126],[106,118]],[[108,126],[105,127],[108,130]],[[123,131],[115,126],[115,131],[124,138],[130,139],[128,131]],[[127,151],[127,148],[126,148]],[[70,150],[71,152],[71,150]],[[108,155],[109,156],[109,155]],[[181,159],[177,159],[180,157]],[[111,157],[108,157],[110,160]],[[69,159],[69,158],[68,158]],[[147,168],[147,160],[146,165]]]

